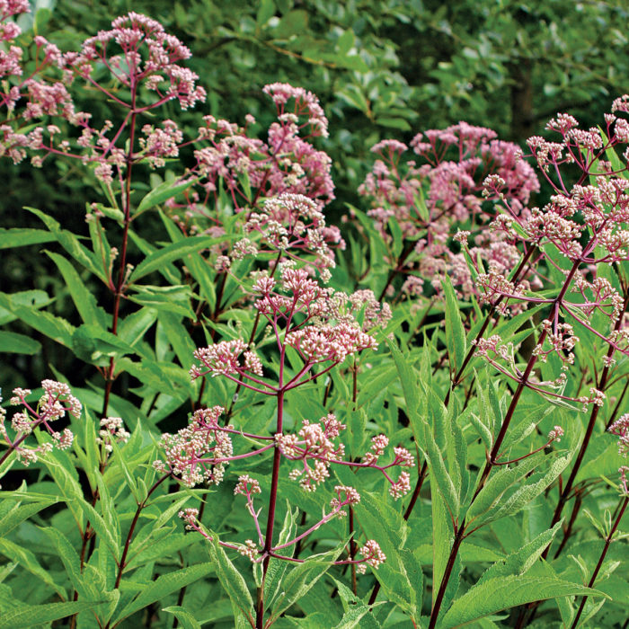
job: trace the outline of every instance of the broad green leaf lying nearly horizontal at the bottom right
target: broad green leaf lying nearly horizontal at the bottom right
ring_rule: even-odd
[[[474,585],[461,598],[457,598],[447,610],[439,627],[450,629],[495,614],[502,609],[526,605],[536,600],[567,596],[606,595],[596,589],[552,577],[500,577]]]

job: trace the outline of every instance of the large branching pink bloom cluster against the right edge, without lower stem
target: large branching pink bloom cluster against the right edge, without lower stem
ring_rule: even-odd
[[[622,325],[625,298],[609,279],[598,274],[610,263],[629,260],[629,230],[626,229],[629,181],[618,176],[627,170],[629,152],[625,150],[625,162],[616,160],[616,171],[607,162],[612,153],[629,143],[629,123],[614,113],[628,112],[628,103],[626,96],[614,102],[613,112],[606,115],[604,132],[598,128],[580,129],[572,116],[559,114],[548,123],[547,129],[558,133],[560,142],[550,142],[543,137],[528,140],[532,156],[554,188],[554,195],[544,208],[521,211],[506,197],[500,198],[505,214],[494,221],[496,229],[509,232],[509,239],[519,241],[525,250],[535,247],[538,267],[545,264],[547,268],[557,268],[549,251],[560,252],[571,264],[571,268],[561,270],[565,279],[555,288],[557,297],[538,297],[530,290],[530,285],[523,282],[515,285],[492,270],[479,273],[476,280],[481,301],[498,306],[501,313],[522,304],[551,306],[552,313],[541,324],[533,355],[545,362],[553,352],[562,361],[563,375],[553,383],[555,388],[563,388],[566,366],[574,362],[573,350],[579,341],[579,330],[594,334],[608,348],[603,357],[606,367],[615,364],[616,352],[629,355],[629,331]],[[565,164],[571,164],[571,171],[576,173],[573,184],[563,173]],[[497,175],[488,177],[487,195],[492,198],[500,195],[503,184]],[[606,316],[601,318],[596,316],[598,314]],[[515,366],[508,344],[501,344],[492,336],[479,341],[477,351],[503,374],[521,381],[522,374]],[[503,365],[497,359],[502,359]],[[573,399],[552,394],[547,387],[539,388],[549,383],[525,384],[552,396]],[[573,400],[600,405],[604,394],[592,389],[589,397]]]

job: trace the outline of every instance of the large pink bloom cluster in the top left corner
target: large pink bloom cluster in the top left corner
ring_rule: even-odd
[[[9,3],[12,4],[12,3]],[[13,13],[18,8],[28,9],[28,3],[13,3]],[[26,4],[22,7],[22,4]],[[4,7],[0,7],[2,11]],[[6,11],[1,13],[6,16]],[[9,13],[10,14],[10,13]],[[4,40],[13,37],[17,27],[2,26]],[[21,161],[25,149],[29,148],[40,155],[33,155],[32,163],[40,166],[48,155],[66,155],[94,165],[94,173],[105,183],[111,183],[117,175],[119,180],[129,164],[123,148],[131,116],[160,107],[165,102],[176,99],[182,109],[203,102],[205,90],[196,82],[198,76],[181,62],[190,58],[190,50],[180,40],[164,31],[155,20],[139,13],[128,13],[111,22],[109,31],[84,41],[79,52],[61,54],[56,46],[38,36],[36,46],[36,68],[28,77],[13,86],[4,94],[3,104],[9,111],[15,110],[16,103],[24,100],[23,110],[15,120],[39,120],[43,117],[59,117],[71,126],[80,129],[74,140],[58,140],[60,129],[49,124],[37,127],[27,133],[20,128],[6,124],[0,128],[2,152]],[[21,51],[11,48],[11,61],[0,52],[0,75],[22,75]],[[94,78],[96,67],[105,67],[111,80],[122,85],[123,90],[111,90]],[[60,79],[53,70],[58,68]],[[92,115],[85,111],[75,111],[68,88],[76,78],[101,92],[111,102],[126,111],[127,115],[120,127],[114,128],[110,120],[105,120],[100,128],[91,124]],[[155,93],[149,104],[138,100],[141,89]],[[125,96],[125,93],[127,96]],[[146,125],[142,129],[145,137],[140,139],[140,152],[133,153],[131,163],[146,159],[152,167],[164,164],[164,159],[178,155],[178,145],[182,143],[182,133],[172,120],[165,120],[162,128]],[[134,148],[131,147],[131,151]],[[42,155],[41,155],[42,154]]]

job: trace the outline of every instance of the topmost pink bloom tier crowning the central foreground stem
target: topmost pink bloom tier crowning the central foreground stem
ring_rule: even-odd
[[[276,285],[276,280],[267,272],[259,273],[253,291],[261,297],[254,306],[270,323],[279,348],[289,345],[304,360],[297,375],[279,387],[271,385],[261,379],[260,357],[255,351],[248,350],[244,341],[236,339],[196,350],[194,358],[200,365],[190,368],[193,379],[222,375],[238,382],[242,378],[242,384],[249,389],[275,395],[280,389],[288,391],[323,376],[361,350],[377,348],[374,337],[362,331],[351,308],[346,307],[349,298],[332,288],[322,288],[305,269],[296,269],[290,263],[282,264],[282,292],[275,289]],[[310,376],[312,368],[321,363],[330,364]]]

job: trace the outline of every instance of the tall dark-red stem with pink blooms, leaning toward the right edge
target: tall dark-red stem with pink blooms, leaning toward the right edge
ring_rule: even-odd
[[[625,97],[618,99],[614,103],[613,110],[629,111],[627,100]],[[547,142],[541,137],[533,137],[528,141],[538,166],[556,191],[551,202],[541,210],[533,208],[530,212],[521,212],[519,208],[509,204],[504,197],[501,198],[499,191],[504,182],[498,176],[492,175],[485,182],[490,193],[501,198],[505,216],[508,218],[506,222],[500,219],[497,223],[498,228],[514,232],[509,222],[517,224],[518,232],[512,234],[513,236],[517,236],[528,246],[535,246],[545,252],[545,261],[557,267],[556,262],[548,255],[548,249],[544,248],[545,244],[552,244],[559,255],[570,262],[570,267],[564,273],[557,296],[552,299],[538,299],[533,296],[529,299],[526,295],[526,287],[515,287],[513,283],[501,277],[500,273],[492,270],[492,267],[487,273],[479,273],[477,284],[482,300],[491,305],[496,305],[499,299],[503,300],[500,305],[502,313],[508,313],[511,304],[526,303],[527,300],[547,304],[550,306],[550,312],[540,326],[536,346],[523,370],[516,367],[513,359],[510,358],[510,350],[505,349],[505,346],[501,347],[498,337],[478,340],[476,343],[478,354],[484,356],[505,377],[517,383],[517,386],[502,420],[499,433],[493,439],[491,450],[487,455],[487,463],[477,483],[472,502],[483,490],[493,467],[500,465],[501,447],[525,388],[566,401],[591,403],[596,407],[602,405],[604,401],[605,396],[600,387],[592,388],[589,397],[581,396],[573,399],[556,393],[557,388],[563,388],[566,378],[565,370],[567,370],[567,365],[574,362],[572,350],[575,343],[579,341],[573,332],[572,324],[562,323],[562,318],[587,328],[589,332],[595,333],[599,339],[607,343],[605,368],[598,381],[599,385],[602,383],[604,386],[607,383],[608,368],[613,364],[614,352],[629,353],[626,334],[620,329],[620,322],[623,320],[627,306],[626,298],[612,288],[607,280],[596,276],[589,280],[585,275],[586,268],[592,269],[601,263],[625,260],[629,252],[629,233],[623,229],[623,223],[627,219],[627,208],[629,208],[629,195],[625,193],[625,190],[629,188],[629,181],[617,178],[618,172],[611,172],[607,163],[601,164],[602,155],[617,145],[626,144],[629,141],[629,134],[627,134],[626,121],[618,119],[614,114],[607,115],[606,123],[607,135],[602,135],[596,129],[581,130],[578,128],[577,121],[571,116],[560,114],[556,120],[549,123],[548,128],[561,134],[561,144]],[[579,180],[571,187],[563,180],[560,170],[560,166],[566,163],[577,164],[581,170]],[[551,173],[558,177],[557,181]],[[591,178],[593,183],[584,185],[588,178]],[[575,293],[580,299],[571,300],[570,296]],[[612,332],[607,334],[599,332],[589,323],[589,315],[597,311],[606,314],[616,324]],[[556,352],[561,359],[564,366],[563,372],[554,383],[546,382],[538,385],[534,382],[536,363],[538,360],[545,362],[551,352]],[[591,417],[594,417],[596,421],[597,413],[593,412],[590,416],[589,434],[594,423]],[[580,459],[588,441],[589,435],[586,435],[581,447]],[[580,459],[578,458],[576,462],[577,466],[580,465]],[[575,476],[576,472],[573,470],[572,482]],[[571,487],[568,489],[568,492],[570,491]],[[567,495],[568,493],[563,490],[561,499],[563,503]],[[561,508],[558,511],[561,512]],[[556,513],[557,511],[555,515]],[[556,521],[558,518],[554,518],[554,522]],[[465,535],[464,518],[458,527],[455,526],[453,547],[432,608],[429,629],[434,629],[437,625],[447,582]]]

